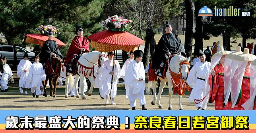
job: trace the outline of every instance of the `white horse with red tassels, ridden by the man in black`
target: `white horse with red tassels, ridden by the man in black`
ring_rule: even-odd
[[[169,62],[171,71],[173,71],[174,73],[178,73],[178,74],[180,74],[180,71],[181,71],[182,79],[185,82],[188,77],[187,74],[188,74],[188,69],[190,67],[190,65],[188,64],[189,60],[190,60],[190,58],[185,58],[184,56],[175,54],[175,56],[173,56],[171,58],[171,61]],[[185,61],[187,61],[187,64],[180,65],[181,62],[185,62]],[[153,88],[153,101],[151,101],[151,104],[155,105],[155,103],[157,103],[159,109],[163,108],[160,103],[160,98],[161,98],[161,94],[163,93],[163,88],[165,87],[166,82],[168,82],[168,88],[169,88],[169,108],[168,108],[168,110],[173,110],[172,101],[171,101],[172,96],[173,96],[173,83],[172,83],[171,74],[170,74],[169,69],[166,72],[165,80],[163,80],[161,77],[158,77],[158,78],[161,79],[158,97],[156,96],[156,81],[149,81],[147,84],[147,90],[146,90],[147,93],[151,93],[151,88]],[[182,84],[182,87],[183,86],[184,86],[184,84]],[[180,110],[183,110],[182,105],[181,105],[181,95],[178,95],[178,96],[179,96]]]

